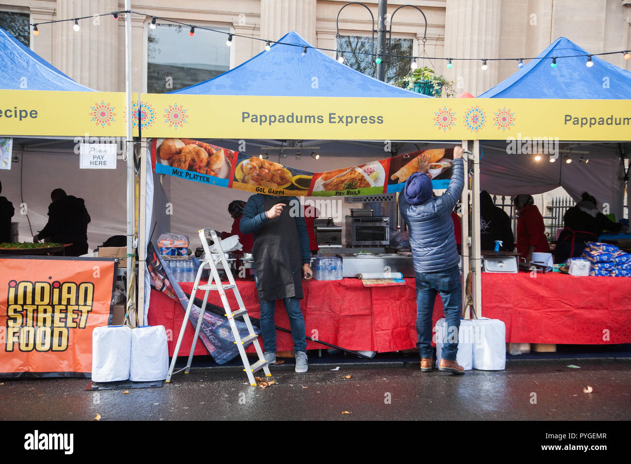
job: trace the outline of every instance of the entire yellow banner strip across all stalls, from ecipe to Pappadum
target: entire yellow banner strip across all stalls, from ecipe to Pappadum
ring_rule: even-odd
[[[124,93],[0,90],[0,136],[126,134]],[[143,94],[143,137],[627,141],[631,100]],[[134,135],[138,121],[134,118]]]

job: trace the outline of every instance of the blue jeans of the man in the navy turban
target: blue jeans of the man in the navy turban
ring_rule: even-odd
[[[458,351],[457,331],[460,328],[463,300],[460,271],[457,266],[441,272],[416,273],[416,333],[418,335],[416,348],[422,358],[432,357],[432,313],[437,293],[442,299],[443,312],[447,319],[445,345],[442,348],[441,357],[455,361]],[[448,343],[450,340],[452,343]]]

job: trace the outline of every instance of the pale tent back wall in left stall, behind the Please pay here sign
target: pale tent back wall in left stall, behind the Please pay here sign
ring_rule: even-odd
[[[48,222],[50,192],[62,188],[67,194],[83,198],[90,213],[88,225],[89,249],[95,249],[112,235],[125,235],[125,163],[118,160],[117,169],[79,169],[79,155],[72,149],[25,148],[20,150],[14,140],[13,156],[18,162],[10,170],[0,170],[2,195],[13,202],[15,215],[12,222],[19,223],[20,241],[30,242],[33,235],[27,216],[22,214],[21,203],[26,204],[33,234]],[[20,198],[20,168],[22,194]]]

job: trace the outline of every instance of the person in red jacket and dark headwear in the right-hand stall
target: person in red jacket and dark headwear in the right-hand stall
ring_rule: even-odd
[[[517,195],[514,204],[517,211],[517,253],[530,263],[533,253],[550,253],[546,227],[532,195]]]

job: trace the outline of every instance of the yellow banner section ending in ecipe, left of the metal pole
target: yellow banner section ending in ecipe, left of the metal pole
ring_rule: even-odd
[[[0,90],[0,135],[124,137],[125,94]]]

